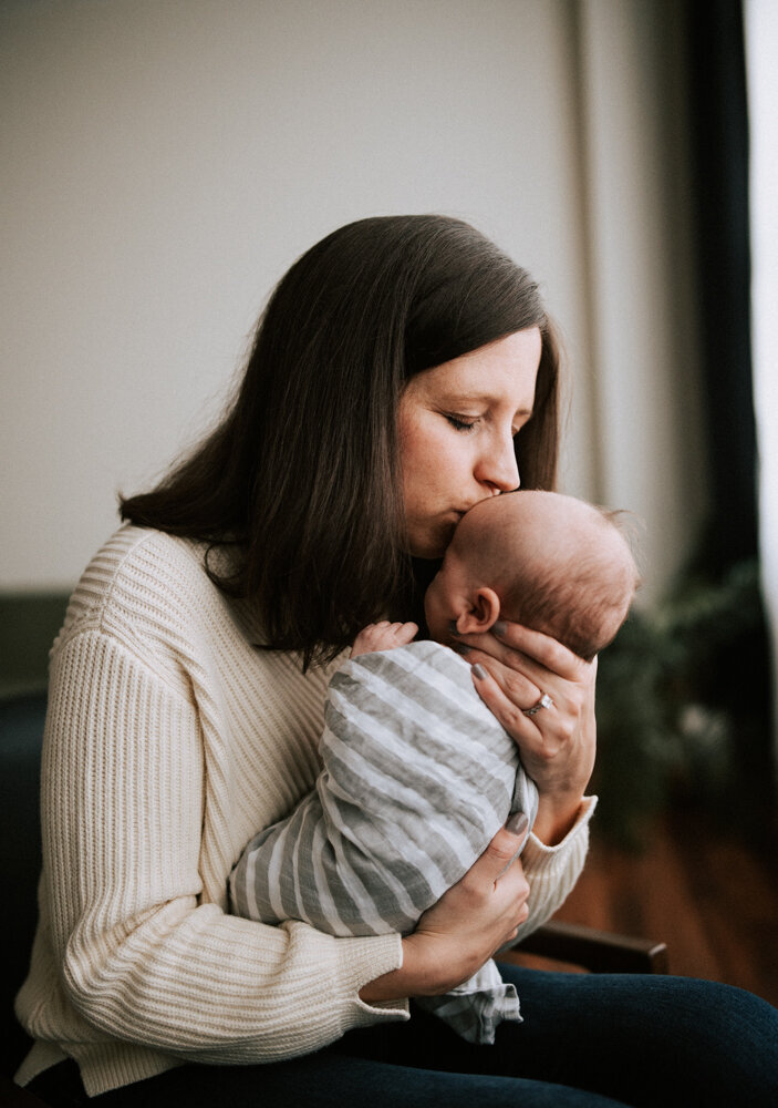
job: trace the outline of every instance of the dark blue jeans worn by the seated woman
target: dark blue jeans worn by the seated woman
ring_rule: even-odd
[[[688,977],[501,970],[516,984],[525,1022],[502,1024],[494,1046],[465,1043],[415,1008],[409,1023],[350,1032],[304,1058],[269,1066],[187,1065],[87,1102],[95,1108],[778,1104],[778,1009],[750,993]],[[55,1102],[39,1085],[45,1078],[31,1088]],[[60,1102],[79,1104],[79,1091],[72,1088],[72,1098]]]

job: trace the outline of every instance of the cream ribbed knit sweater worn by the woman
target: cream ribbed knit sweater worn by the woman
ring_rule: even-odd
[[[226,913],[247,841],[308,793],[330,670],[260,652],[196,543],[122,527],[95,556],[51,655],[40,922],[17,1013],[17,1080],[66,1056],[95,1094],[181,1061],[302,1055],[407,1018],[360,988],[398,935],[333,938]],[[583,865],[593,801],[554,848],[530,839],[523,931]]]

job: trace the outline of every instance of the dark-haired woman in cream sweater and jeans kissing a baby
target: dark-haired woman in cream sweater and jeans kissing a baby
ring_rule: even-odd
[[[283,278],[224,421],[123,501],[54,647],[20,1081],[105,1105],[771,1099],[775,1012],[725,986],[506,967],[525,1023],[494,1047],[407,1020],[583,864],[594,666],[521,627],[463,650],[538,784],[523,872],[506,829],[405,938],[225,914],[241,848],[314,784],[329,664],[418,622],[471,504],[552,488],[558,377],[536,286],[457,220],[361,220]]]

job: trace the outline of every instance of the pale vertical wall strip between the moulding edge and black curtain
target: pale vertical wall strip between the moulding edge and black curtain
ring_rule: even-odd
[[[599,480],[647,525],[655,596],[707,495],[682,13],[675,0],[578,10]]]

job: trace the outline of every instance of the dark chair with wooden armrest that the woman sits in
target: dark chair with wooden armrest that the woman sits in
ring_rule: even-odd
[[[13,1085],[11,1077],[30,1039],[13,1015],[15,996],[27,973],[37,919],[37,886],[41,868],[39,784],[45,693],[0,699],[0,859],[6,911],[6,941],[0,975],[0,1102],[34,1108],[41,1101]],[[664,973],[663,943],[625,938],[589,927],[549,923],[520,944],[522,952],[594,972]]]

